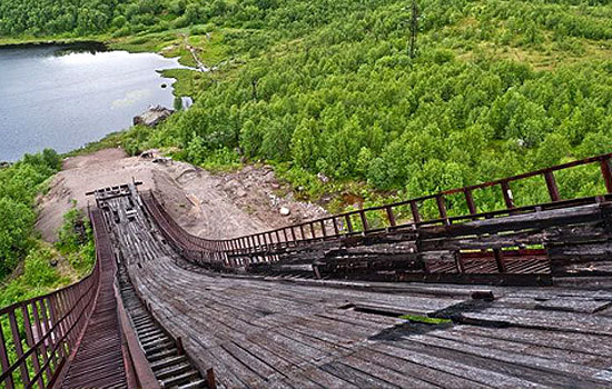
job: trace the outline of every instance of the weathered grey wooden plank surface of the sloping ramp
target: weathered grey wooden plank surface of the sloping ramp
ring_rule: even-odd
[[[207,273],[190,270],[141,210],[128,221],[127,198],[109,205],[139,293],[200,369],[215,369],[219,387],[612,386],[605,282],[491,288]]]

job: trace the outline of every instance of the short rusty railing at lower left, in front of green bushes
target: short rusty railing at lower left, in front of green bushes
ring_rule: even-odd
[[[93,223],[93,228],[103,227]],[[99,276],[97,260],[81,281],[0,309],[0,387],[48,388],[57,383],[86,328]]]

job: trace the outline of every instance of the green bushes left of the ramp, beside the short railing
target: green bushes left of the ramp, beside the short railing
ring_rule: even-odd
[[[86,236],[75,231],[75,226],[85,221],[80,211],[66,213],[56,245],[42,242],[34,230],[36,198],[60,167],[61,157],[47,149],[0,169],[0,307],[71,283],[91,269],[95,246],[90,228],[86,223]],[[70,273],[68,267],[60,271],[60,261],[69,265]]]

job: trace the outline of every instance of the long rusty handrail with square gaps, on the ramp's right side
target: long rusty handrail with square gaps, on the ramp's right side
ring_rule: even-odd
[[[314,240],[337,239],[339,237],[368,235],[373,232],[415,228],[422,226],[451,226],[456,222],[465,222],[483,218],[494,218],[522,212],[532,212],[542,208],[551,209],[557,207],[567,207],[578,203],[592,203],[593,201],[598,200],[598,196],[610,197],[610,194],[612,193],[611,159],[612,153],[606,153],[572,161],[569,163],[553,166],[545,169],[539,169],[517,176],[506,177],[494,181],[483,182],[480,184],[444,190],[437,193],[422,196],[389,205],[347,211],[334,216],[328,216],[231,239],[210,240],[189,233],[169,216],[167,210],[158,201],[152,191],[149,191],[148,199],[150,199],[150,201],[146,201],[146,205],[148,208],[152,208],[152,212],[155,212],[154,217],[156,217],[156,219],[165,219],[165,235],[170,237],[176,246],[180,247],[184,251],[190,253],[193,257],[196,257],[196,253],[198,251],[209,251],[200,252],[200,257],[207,257],[208,259],[210,259],[211,257],[210,252],[224,253],[223,256],[217,256],[218,259],[226,262],[226,265],[231,266],[231,263],[227,260],[227,255],[248,255],[265,251],[270,247],[277,248],[288,245],[307,243]],[[579,166],[592,164],[595,162],[600,166],[606,193],[594,193],[594,196],[592,197],[584,198],[562,199],[556,183],[555,172]],[[545,184],[551,201],[516,207],[510,184],[539,176],[544,179],[542,184]],[[494,187],[500,188],[505,209],[478,212],[473,193],[481,189]],[[447,197],[457,193],[463,194],[468,212],[460,216],[448,216],[446,209]],[[426,200],[436,201],[438,213],[436,217],[426,219],[423,215],[421,215],[418,205],[423,203],[423,201]],[[405,222],[398,221],[397,216],[401,213],[401,211],[397,210],[397,208],[399,207],[409,207],[411,217]],[[368,216],[372,215],[372,212],[381,211],[384,212],[382,219],[383,227],[372,227],[372,222],[371,219],[368,219]]]

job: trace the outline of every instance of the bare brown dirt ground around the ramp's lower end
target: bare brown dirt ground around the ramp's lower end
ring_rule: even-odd
[[[121,149],[106,149],[69,158],[39,199],[37,229],[47,241],[57,239],[63,215],[72,201],[87,208],[98,188],[142,181],[139,190],[154,189],[170,213],[190,232],[217,239],[264,231],[326,215],[319,206],[294,200],[269,167],[247,166],[240,171],[211,174],[185,162],[151,156],[127,157]],[[280,215],[287,208],[288,216]]]

